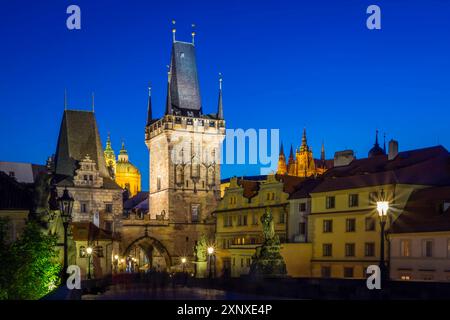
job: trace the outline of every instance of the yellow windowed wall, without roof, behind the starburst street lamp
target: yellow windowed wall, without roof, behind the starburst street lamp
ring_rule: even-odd
[[[387,230],[395,215],[403,210],[411,192],[418,187],[376,185],[311,193],[312,276],[365,278],[367,267],[378,265],[380,259],[376,201],[384,193],[392,206],[393,215],[386,224]],[[388,257],[387,242],[385,250],[385,257]]]

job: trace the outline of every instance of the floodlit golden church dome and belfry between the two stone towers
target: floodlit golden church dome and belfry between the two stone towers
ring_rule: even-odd
[[[114,181],[121,188],[128,190],[130,197],[135,196],[141,191],[141,173],[130,162],[128,152],[125,149],[125,143],[122,142],[122,148],[116,160],[114,150],[111,147],[111,139],[108,135],[104,157],[111,177],[113,177]]]

